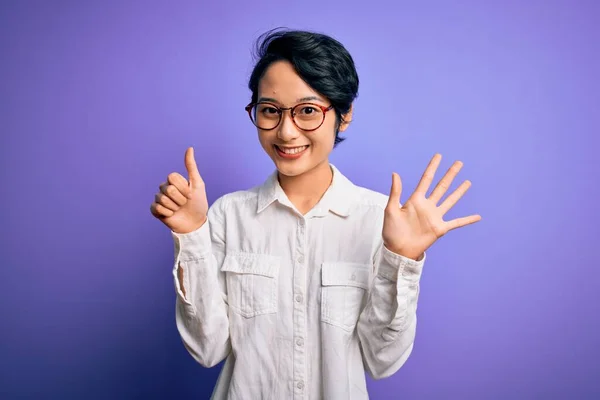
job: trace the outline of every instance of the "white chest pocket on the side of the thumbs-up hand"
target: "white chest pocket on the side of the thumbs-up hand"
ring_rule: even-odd
[[[277,312],[279,257],[265,254],[226,255],[227,299],[232,311],[245,318]]]

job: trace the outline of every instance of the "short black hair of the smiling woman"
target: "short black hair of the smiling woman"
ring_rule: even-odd
[[[284,28],[263,33],[255,46],[257,61],[248,82],[252,102],[258,99],[258,83],[267,68],[276,61],[289,61],[300,78],[331,102],[336,114],[334,147],[343,142],[342,116],[358,96],[358,73],[346,48],[325,34]]]

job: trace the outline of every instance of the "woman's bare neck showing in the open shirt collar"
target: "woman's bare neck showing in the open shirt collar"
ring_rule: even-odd
[[[321,200],[333,179],[328,161],[298,176],[278,174],[279,184],[292,204],[302,213],[308,212]]]

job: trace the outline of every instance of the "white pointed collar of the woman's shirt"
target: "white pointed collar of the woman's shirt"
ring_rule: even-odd
[[[333,164],[329,164],[333,171],[331,185],[309,212],[309,215],[324,217],[329,211],[343,217],[350,215],[352,202],[355,198],[356,186],[350,182]],[[294,208],[277,179],[275,170],[259,187],[257,212],[260,213],[274,201],[290,208]]]

